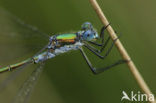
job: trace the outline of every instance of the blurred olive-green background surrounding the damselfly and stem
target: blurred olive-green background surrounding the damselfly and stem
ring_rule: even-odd
[[[122,34],[121,42],[156,94],[156,1],[98,2],[113,28]],[[16,18],[48,35],[78,31],[85,21],[90,21],[98,31],[102,27],[88,0],[0,0],[0,67],[33,56],[48,42],[35,28],[24,26]],[[96,67],[120,59],[115,47],[104,61],[85,51]],[[13,101],[35,67],[26,67],[0,92],[1,103]],[[1,74],[0,82],[12,73]],[[80,52],[73,51],[46,62],[29,103],[120,103],[123,90],[128,94],[141,91],[126,64],[93,75]]]

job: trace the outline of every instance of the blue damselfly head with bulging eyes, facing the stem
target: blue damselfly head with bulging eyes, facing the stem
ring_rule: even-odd
[[[82,24],[82,39],[86,41],[93,41],[98,38],[98,33],[93,28],[90,22],[85,22]]]

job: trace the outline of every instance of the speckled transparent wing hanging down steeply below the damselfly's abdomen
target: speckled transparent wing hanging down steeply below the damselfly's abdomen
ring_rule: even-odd
[[[13,103],[26,103],[31,95],[31,92],[37,83],[42,71],[44,63],[40,64],[24,82],[23,86],[19,89],[17,96]]]

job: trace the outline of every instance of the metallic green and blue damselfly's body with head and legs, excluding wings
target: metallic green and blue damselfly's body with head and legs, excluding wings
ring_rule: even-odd
[[[11,71],[12,69],[16,69],[26,64],[42,63],[48,59],[52,59],[56,57],[59,54],[62,54],[71,50],[80,50],[88,66],[90,67],[91,71],[94,74],[101,73],[109,68],[112,68],[113,66],[124,63],[125,60],[119,60],[116,63],[109,65],[107,67],[104,67],[104,68],[95,68],[94,66],[92,66],[91,62],[89,61],[82,47],[86,47],[93,54],[98,56],[100,59],[105,59],[110,53],[112,47],[114,46],[115,41],[118,39],[116,38],[113,41],[111,47],[105,52],[104,56],[100,55],[100,53],[103,52],[103,50],[107,46],[108,41],[110,40],[110,37],[108,37],[106,42],[104,41],[104,30],[108,26],[109,24],[106,27],[103,27],[101,29],[100,37],[98,36],[98,33],[93,28],[92,24],[89,22],[85,22],[82,25],[81,30],[76,33],[53,35],[49,37],[48,45],[45,46],[41,51],[39,51],[39,53],[37,53],[35,56],[28,58],[22,62],[0,68],[0,72]],[[99,39],[99,38],[102,38],[102,42],[100,44],[94,42],[96,39]],[[96,46],[100,46],[101,49],[96,49],[93,46],[91,46],[89,43],[96,45]]]

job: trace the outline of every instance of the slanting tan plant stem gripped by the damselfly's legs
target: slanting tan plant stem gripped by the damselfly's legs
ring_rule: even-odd
[[[96,0],[89,0],[89,1],[90,1],[91,5],[93,6],[96,14],[100,18],[101,22],[103,23],[103,25],[105,25],[105,26],[108,25],[109,22],[108,22],[107,18],[105,17],[104,13],[102,12],[100,6],[98,5],[97,1]],[[117,35],[111,26],[108,26],[107,31],[110,34],[112,40],[115,40],[117,38]],[[149,87],[145,83],[143,77],[137,70],[135,64],[131,60],[130,56],[128,55],[127,51],[125,50],[125,48],[123,47],[123,45],[119,39],[115,42],[115,45],[116,45],[117,49],[119,50],[123,59],[128,61],[127,65],[129,67],[130,71],[132,72],[134,78],[136,79],[138,85],[140,86],[142,91],[144,93],[146,93],[149,97],[150,94],[152,94],[152,92],[150,91]],[[150,101],[150,103],[156,103],[156,101]]]

